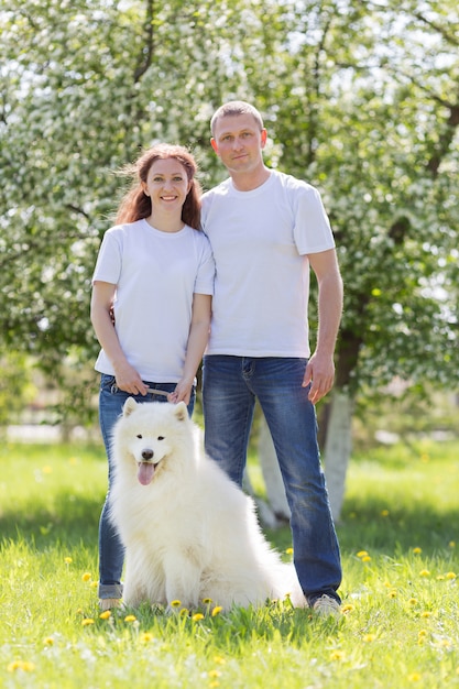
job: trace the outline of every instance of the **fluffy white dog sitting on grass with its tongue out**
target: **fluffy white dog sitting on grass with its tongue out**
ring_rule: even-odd
[[[228,610],[291,597],[293,565],[260,529],[253,501],[204,456],[186,405],[130,397],[113,434],[111,518],[125,546],[123,600]],[[177,605],[177,603],[176,603]]]

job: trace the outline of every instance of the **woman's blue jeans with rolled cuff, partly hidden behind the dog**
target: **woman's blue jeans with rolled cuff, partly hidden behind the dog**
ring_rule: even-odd
[[[155,390],[174,392],[176,383],[144,383]],[[121,573],[124,562],[124,548],[118,532],[109,520],[110,488],[113,478],[113,459],[111,457],[111,435],[113,426],[122,414],[122,407],[128,397],[136,402],[167,402],[166,397],[147,393],[131,395],[119,390],[113,375],[101,374],[99,392],[99,423],[106,446],[108,459],[108,492],[99,522],[99,598],[121,598]],[[188,414],[192,416],[195,406],[196,391],[193,389],[188,404]]]

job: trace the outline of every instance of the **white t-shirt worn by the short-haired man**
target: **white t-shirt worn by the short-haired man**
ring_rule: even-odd
[[[227,179],[203,197],[203,229],[216,261],[207,354],[309,357],[309,261],[335,247],[320,195],[271,171],[239,192]]]

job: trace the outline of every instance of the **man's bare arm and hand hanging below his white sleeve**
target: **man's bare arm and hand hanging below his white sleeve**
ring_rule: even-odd
[[[310,385],[309,400],[316,404],[331,390],[335,381],[334,353],[342,315],[342,280],[335,249],[308,255],[318,284],[316,350],[305,370],[303,386]]]

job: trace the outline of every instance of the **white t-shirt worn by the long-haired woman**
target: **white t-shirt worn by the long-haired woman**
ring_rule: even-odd
[[[129,363],[144,381],[181,379],[193,295],[211,295],[214,276],[209,240],[188,226],[179,232],[161,232],[138,220],[105,233],[92,282],[117,285],[117,335]],[[114,375],[103,349],[95,368]]]

